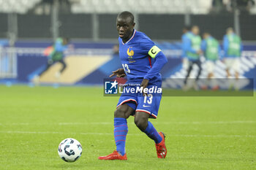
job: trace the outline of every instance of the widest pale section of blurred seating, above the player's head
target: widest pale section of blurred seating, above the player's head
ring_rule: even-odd
[[[122,10],[129,10],[138,13],[154,14],[206,14],[211,8],[211,1],[204,0],[70,0],[72,12],[74,13],[117,13]]]

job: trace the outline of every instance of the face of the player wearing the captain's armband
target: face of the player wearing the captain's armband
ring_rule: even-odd
[[[121,39],[128,40],[132,36],[135,23],[130,18],[117,18],[116,28]]]

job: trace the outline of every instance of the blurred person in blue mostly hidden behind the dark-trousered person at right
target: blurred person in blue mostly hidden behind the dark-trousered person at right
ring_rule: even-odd
[[[182,63],[183,63],[183,68],[185,70],[188,69],[189,66],[189,61],[186,57],[186,50],[185,50],[185,42],[188,39],[188,34],[192,34],[190,31],[190,26],[185,26],[182,30],[183,34],[181,36],[181,42],[182,42],[182,54],[181,54],[181,58],[182,58]]]

